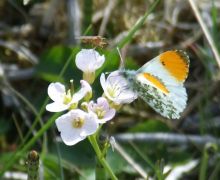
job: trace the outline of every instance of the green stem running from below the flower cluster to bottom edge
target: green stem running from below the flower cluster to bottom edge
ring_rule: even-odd
[[[99,148],[99,145],[97,143],[95,134],[89,136],[89,141],[90,141],[93,149],[96,152],[96,155],[97,155],[97,157],[99,159],[99,162],[102,164],[102,166],[105,168],[105,170],[109,173],[109,175],[111,176],[111,179],[117,180],[118,178],[115,176],[115,174],[113,173],[111,167],[109,166],[109,164],[107,163],[107,161],[103,157],[103,154],[102,154],[102,152],[101,152],[101,150]]]

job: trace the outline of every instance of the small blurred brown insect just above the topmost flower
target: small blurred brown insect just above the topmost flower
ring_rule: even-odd
[[[94,47],[104,48],[107,46],[107,41],[102,36],[80,36],[79,38],[84,44],[90,44]]]

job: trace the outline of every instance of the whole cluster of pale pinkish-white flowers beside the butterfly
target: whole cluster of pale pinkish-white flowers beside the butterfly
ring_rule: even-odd
[[[51,83],[48,87],[48,95],[53,102],[46,106],[47,111],[67,111],[56,119],[56,126],[66,145],[74,145],[94,134],[100,124],[114,118],[118,107],[137,98],[128,88],[126,79],[119,71],[114,71],[107,78],[104,73],[101,74],[100,83],[104,93],[93,101],[91,85],[95,80],[95,72],[103,65],[105,57],[94,49],[82,49],[76,55],[75,62],[83,71],[78,91],[75,92],[73,84],[72,88],[66,89],[59,82]]]

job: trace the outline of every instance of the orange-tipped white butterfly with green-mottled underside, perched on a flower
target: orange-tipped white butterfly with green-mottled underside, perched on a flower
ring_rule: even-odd
[[[131,89],[156,112],[179,119],[186,107],[184,82],[189,73],[189,57],[182,50],[166,51],[137,71],[122,70]]]

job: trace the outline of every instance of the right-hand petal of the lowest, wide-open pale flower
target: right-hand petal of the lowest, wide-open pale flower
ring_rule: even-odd
[[[98,121],[97,117],[94,113],[88,113],[85,117],[85,122],[83,125],[83,130],[81,132],[81,136],[88,136],[94,134],[98,129]]]

